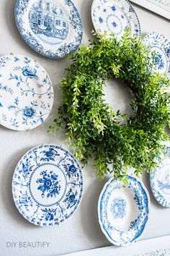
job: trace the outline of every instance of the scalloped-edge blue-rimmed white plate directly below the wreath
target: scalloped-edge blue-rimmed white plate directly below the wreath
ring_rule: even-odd
[[[109,179],[99,197],[99,223],[109,242],[125,246],[135,242],[146,227],[149,196],[139,179],[128,176],[123,187],[120,179]]]

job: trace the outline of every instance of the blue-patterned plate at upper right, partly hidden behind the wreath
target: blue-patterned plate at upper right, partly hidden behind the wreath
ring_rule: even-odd
[[[170,41],[164,35],[153,32],[146,35],[143,43],[155,54],[153,72],[166,72],[170,79]]]

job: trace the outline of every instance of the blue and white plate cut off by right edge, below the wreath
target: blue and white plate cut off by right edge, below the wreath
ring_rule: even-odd
[[[161,153],[161,163],[150,174],[151,189],[156,200],[170,208],[170,142],[166,142],[166,153]]]

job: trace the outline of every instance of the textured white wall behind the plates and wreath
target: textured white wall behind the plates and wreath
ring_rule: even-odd
[[[42,143],[56,143],[68,148],[65,136],[61,132],[57,137],[46,133],[49,124],[55,117],[58,106],[61,104],[60,81],[69,60],[47,59],[35,53],[19,35],[14,24],[14,0],[0,0],[0,52],[4,54],[25,54],[37,59],[49,73],[55,88],[55,105],[48,121],[30,132],[13,132],[0,127],[0,255],[61,255],[68,252],[103,247],[109,245],[107,239],[100,231],[97,221],[97,200],[105,181],[99,182],[92,166],[84,168],[84,197],[79,210],[60,226],[40,228],[33,226],[19,214],[12,199],[12,175],[17,162],[24,153],[35,145]],[[79,9],[84,25],[84,38],[82,43],[88,43],[93,29],[91,23],[92,0],[73,0]],[[135,6],[138,13],[143,34],[156,30],[170,39],[170,22],[162,17]],[[108,86],[108,88],[110,88]],[[106,90],[107,100],[110,90]],[[116,93],[115,105],[122,110],[128,108],[129,102],[123,90],[114,86]],[[113,90],[113,93],[114,93]],[[118,103],[119,98],[122,99]],[[119,105],[118,105],[119,104]],[[71,149],[70,149],[71,150]],[[143,181],[149,188],[148,175]],[[151,238],[170,234],[170,210],[161,208],[151,195],[151,216],[148,228],[143,238]],[[8,248],[6,242],[50,242],[47,248]],[[9,244],[8,244],[9,245]]]

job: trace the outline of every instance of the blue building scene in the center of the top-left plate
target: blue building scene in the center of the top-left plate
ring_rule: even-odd
[[[35,2],[29,13],[30,27],[36,35],[66,39],[68,36],[68,20],[64,17],[63,10],[56,4],[42,0]]]

